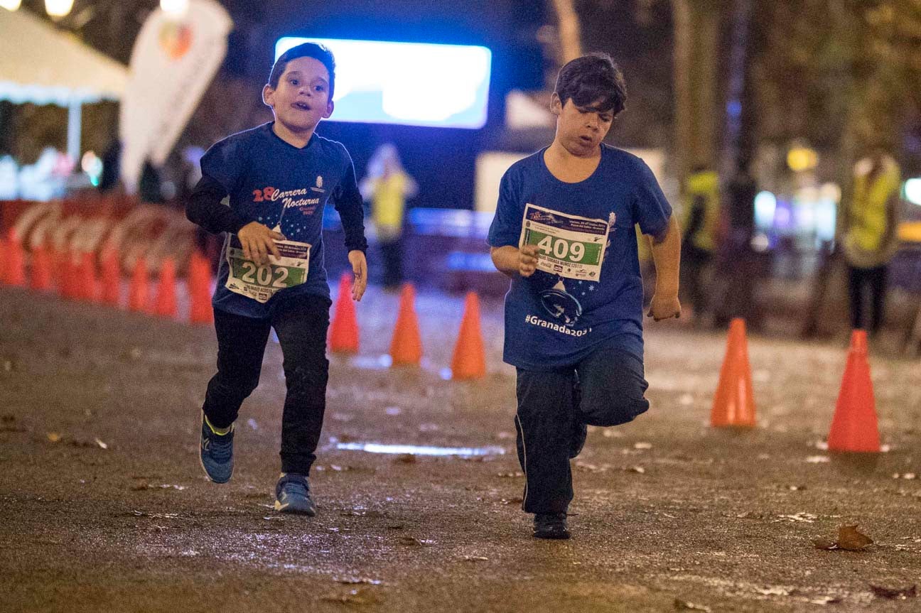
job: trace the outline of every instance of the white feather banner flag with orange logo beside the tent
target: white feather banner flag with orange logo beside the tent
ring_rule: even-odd
[[[181,16],[157,8],[134,42],[122,98],[122,180],[134,192],[144,161],[169,152],[227,54],[233,21],[215,0],[190,0]]]

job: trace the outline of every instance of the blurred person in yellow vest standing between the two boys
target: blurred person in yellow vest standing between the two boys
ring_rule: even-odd
[[[384,264],[385,289],[402,283],[402,230],[406,199],[418,191],[415,181],[402,168],[395,145],[380,145],[367,163],[367,177],[361,193],[371,201],[371,219],[377,231]]]

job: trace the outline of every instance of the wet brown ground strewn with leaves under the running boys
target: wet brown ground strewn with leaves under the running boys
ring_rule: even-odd
[[[821,448],[843,345],[750,339],[759,426],[739,434],[706,426],[724,336],[650,326],[653,408],[589,434],[574,538],[547,542],[519,510],[500,307],[483,307],[489,376],[458,383],[440,369],[461,297],[420,295],[421,369],[379,362],[396,303],[372,291],[361,355],[332,359],[311,519],[271,509],[276,344],[215,485],[196,456],[213,331],[0,288],[0,610],[921,610],[870,589],[921,583],[917,361],[871,358],[890,450],[861,466]],[[505,453],[337,448],[361,443]],[[812,545],[848,524],[874,544]]]

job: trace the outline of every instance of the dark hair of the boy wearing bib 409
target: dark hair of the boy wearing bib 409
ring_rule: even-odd
[[[554,91],[563,106],[571,99],[577,107],[612,111],[615,117],[627,101],[624,73],[607,53],[589,53],[565,64],[556,76]]]

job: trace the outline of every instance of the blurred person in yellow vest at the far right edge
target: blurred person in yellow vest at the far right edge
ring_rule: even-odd
[[[854,190],[844,209],[845,236],[842,247],[848,265],[851,325],[880,331],[886,301],[887,268],[898,249],[899,165],[875,148],[854,167]],[[865,300],[869,290],[869,321]],[[869,323],[869,328],[867,324]]]

